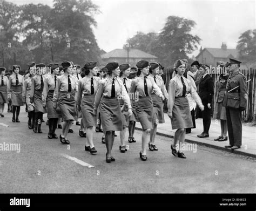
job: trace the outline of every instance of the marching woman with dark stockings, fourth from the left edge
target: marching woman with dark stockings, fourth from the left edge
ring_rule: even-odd
[[[35,125],[33,127],[34,133],[42,133],[41,125],[44,114],[44,107],[42,101],[42,93],[44,89],[44,73],[45,64],[36,65],[36,76],[31,80],[30,103],[35,106]]]

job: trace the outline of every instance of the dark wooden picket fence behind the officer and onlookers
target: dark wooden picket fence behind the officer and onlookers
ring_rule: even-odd
[[[174,69],[165,69],[164,74],[166,74],[166,81],[165,81],[165,87],[168,91],[169,88],[169,81],[172,79]],[[255,111],[255,72],[256,69],[248,69],[248,70],[240,70],[242,74],[245,75],[246,81],[250,80],[248,83],[246,83],[247,86],[247,106],[246,110],[242,112],[242,119],[246,122],[251,122],[256,120],[256,111]],[[214,96],[215,94],[215,80],[217,79],[218,74],[211,74],[213,80],[214,80]],[[215,98],[213,98],[213,105],[215,103]],[[214,108],[213,108],[214,109]],[[167,104],[164,104],[164,111],[167,112]],[[213,110],[212,110],[213,111]]]

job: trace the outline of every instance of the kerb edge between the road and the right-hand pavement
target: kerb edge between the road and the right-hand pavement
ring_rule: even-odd
[[[142,131],[142,128],[139,128],[139,127],[135,127],[135,129],[138,130],[138,131]],[[168,137],[168,138],[174,138],[173,135],[168,135],[168,134],[160,133],[160,132],[157,132],[157,135],[161,135],[161,136]],[[252,153],[247,153],[247,152],[242,152],[242,151],[237,151],[237,150],[232,151],[228,148],[215,146],[215,145],[212,145],[212,144],[207,144],[207,143],[203,143],[203,142],[200,142],[200,141],[194,141],[194,140],[190,140],[190,139],[185,139],[185,141],[188,142],[188,143],[191,143],[191,144],[198,144],[198,145],[202,145],[202,146],[206,146],[206,147],[220,149],[220,150],[225,151],[225,152],[231,152],[231,153],[234,153],[234,154],[239,154],[239,155],[244,155],[244,156],[250,156],[251,158],[256,158],[256,154],[252,154]]]

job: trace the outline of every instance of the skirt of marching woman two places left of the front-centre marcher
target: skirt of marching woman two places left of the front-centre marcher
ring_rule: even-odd
[[[58,106],[63,121],[77,120],[75,91],[59,92]]]

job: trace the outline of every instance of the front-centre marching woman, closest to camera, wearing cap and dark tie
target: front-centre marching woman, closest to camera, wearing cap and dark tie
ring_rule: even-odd
[[[100,115],[102,118],[102,128],[106,132],[106,162],[115,161],[111,155],[114,144],[114,131],[122,131],[122,115],[119,104],[119,96],[124,98],[124,105],[128,106],[129,115],[132,115],[132,107],[129,95],[119,76],[120,70],[118,63],[111,62],[106,65],[107,77],[100,81],[96,97],[93,113],[97,114],[97,108],[100,103]],[[103,97],[102,97],[103,96]]]

